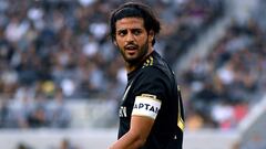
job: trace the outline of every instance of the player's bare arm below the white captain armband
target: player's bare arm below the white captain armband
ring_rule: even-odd
[[[115,141],[110,149],[139,149],[152,129],[154,119],[145,116],[132,116],[130,130]]]

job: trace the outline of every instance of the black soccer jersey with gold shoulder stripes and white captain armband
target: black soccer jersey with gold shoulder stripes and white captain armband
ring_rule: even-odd
[[[131,116],[143,114],[155,121],[142,149],[182,149],[181,92],[166,62],[154,51],[127,78],[120,107],[119,138],[129,131]]]

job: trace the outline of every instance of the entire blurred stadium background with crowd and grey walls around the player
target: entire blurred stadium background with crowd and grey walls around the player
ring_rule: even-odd
[[[121,0],[0,0],[0,148],[106,149],[126,76]],[[146,0],[183,91],[184,149],[266,149],[266,1]]]

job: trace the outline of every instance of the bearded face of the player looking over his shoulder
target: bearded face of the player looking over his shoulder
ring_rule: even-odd
[[[124,18],[115,23],[115,45],[125,62],[135,64],[152,51],[153,33],[147,33],[142,18]]]

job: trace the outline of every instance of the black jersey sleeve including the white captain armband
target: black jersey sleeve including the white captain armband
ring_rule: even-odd
[[[166,99],[167,77],[158,68],[145,67],[134,81],[135,96],[132,115],[155,119]]]

